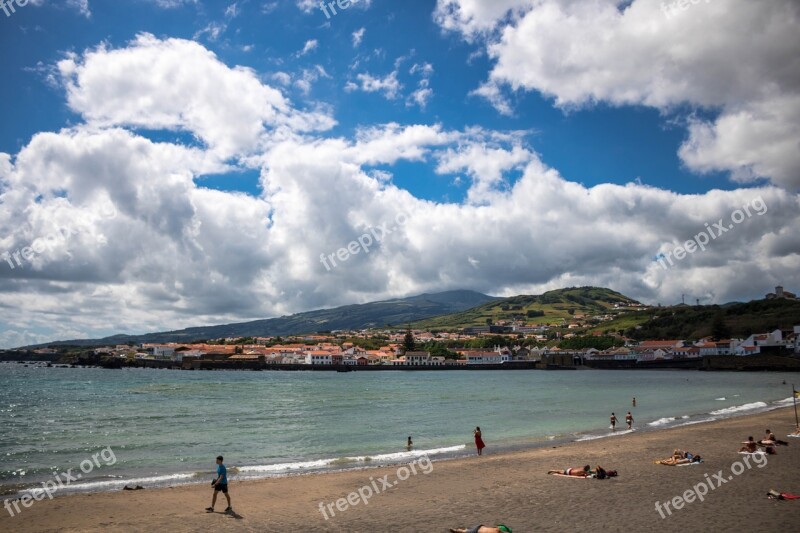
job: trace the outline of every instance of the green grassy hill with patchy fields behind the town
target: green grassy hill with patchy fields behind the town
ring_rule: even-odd
[[[610,310],[639,306],[639,302],[611,289],[571,287],[536,296],[512,296],[483,303],[466,311],[426,318],[411,324],[419,329],[458,329],[483,326],[491,320],[524,320],[529,324],[571,321],[575,315],[603,315]]]

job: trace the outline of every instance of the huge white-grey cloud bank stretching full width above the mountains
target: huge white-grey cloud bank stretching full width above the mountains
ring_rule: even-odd
[[[142,35],[59,71],[82,122],[0,153],[0,254],[76,231],[21,266],[0,260],[0,345],[465,287],[592,284],[671,303],[759,295],[733,280],[800,285],[800,196],[785,189],[585,187],[542,162],[524,132],[389,123],[326,135],[329,114],[298,110],[250,69],[179,39]],[[466,201],[414,197],[394,183],[403,162],[463,177]],[[202,187],[245,169],[259,172],[257,195]],[[707,251],[669,270],[653,260],[756,197],[768,211]],[[378,226],[389,232],[369,253],[326,269],[321,256]]]

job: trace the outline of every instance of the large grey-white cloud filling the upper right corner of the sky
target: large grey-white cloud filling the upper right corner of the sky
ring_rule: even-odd
[[[680,148],[689,168],[800,186],[800,150],[787,140],[800,138],[793,0],[701,2],[670,16],[649,0],[440,0],[436,13],[443,28],[486,40],[495,64],[473,94],[501,113],[511,113],[506,88],[564,109],[693,106],[716,117],[692,122]]]

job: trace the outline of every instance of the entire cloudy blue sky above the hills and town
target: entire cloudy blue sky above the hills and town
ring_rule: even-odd
[[[796,0],[4,0],[0,348],[800,290]]]

